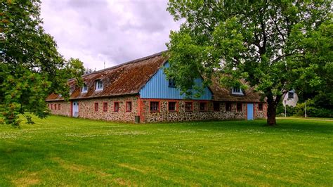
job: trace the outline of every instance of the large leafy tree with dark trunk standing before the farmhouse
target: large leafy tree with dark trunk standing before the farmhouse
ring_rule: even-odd
[[[170,0],[167,10],[184,22],[166,44],[166,75],[183,93],[200,75],[206,84],[219,77],[221,84],[246,88],[244,79],[266,98],[267,124],[275,125],[284,93],[322,84],[319,72],[332,60],[332,35],[320,37],[318,31],[332,27],[330,8],[329,1]],[[313,51],[313,34],[329,45]],[[329,50],[331,56],[322,59]]]

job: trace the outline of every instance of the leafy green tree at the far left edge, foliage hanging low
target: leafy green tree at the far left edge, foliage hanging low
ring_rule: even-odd
[[[53,37],[41,26],[39,0],[0,1],[0,112],[19,127],[19,114],[46,117],[49,93],[69,95],[67,78],[77,61],[65,63]],[[76,72],[74,73],[76,75]]]

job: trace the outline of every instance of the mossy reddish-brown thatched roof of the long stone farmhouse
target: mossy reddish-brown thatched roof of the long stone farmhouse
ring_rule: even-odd
[[[138,95],[139,91],[145,86],[148,80],[155,75],[167,58],[162,53],[156,53],[137,60],[131,60],[114,67],[104,70],[92,72],[89,75],[82,76],[82,79],[88,91],[82,93],[81,87],[75,86],[75,80],[70,79],[68,84],[72,89],[70,100],[83,98],[98,98],[110,96]],[[103,82],[103,90],[96,91],[96,80]],[[244,95],[233,95],[231,89],[221,86],[218,79],[213,80],[213,84],[209,86],[213,92],[214,101],[230,101],[230,102],[261,102],[259,93],[254,92],[253,88],[249,88]],[[60,101],[61,96],[55,93],[46,98],[46,101]]]

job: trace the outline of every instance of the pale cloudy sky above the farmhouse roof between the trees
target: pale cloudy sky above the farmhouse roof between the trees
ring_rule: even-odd
[[[65,58],[100,70],[166,50],[178,30],[167,0],[42,0],[44,29]]]

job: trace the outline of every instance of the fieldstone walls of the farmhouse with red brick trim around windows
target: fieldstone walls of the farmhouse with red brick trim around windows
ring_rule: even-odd
[[[185,122],[202,120],[247,120],[247,103],[242,104],[242,111],[237,111],[237,103],[230,103],[231,110],[226,111],[226,103],[219,102],[219,111],[214,111],[212,101],[185,101],[166,99],[145,99],[138,96],[124,96],[117,98],[93,98],[79,101],[79,117],[93,120],[107,120],[115,122],[134,122],[135,116],[140,116],[141,122]],[[126,102],[132,103],[131,112],[126,111]],[[159,110],[150,112],[150,102],[159,102]],[[168,102],[176,102],[176,111],[168,110]],[[115,112],[115,102],[119,102],[119,111]],[[192,110],[185,111],[185,102],[192,102]],[[98,103],[98,111],[95,111]],[[107,103],[107,111],[103,110],[103,103]],[[200,111],[200,103],[207,103],[207,110]],[[60,110],[58,105],[60,104]],[[71,116],[70,102],[48,102],[53,115]],[[54,105],[57,105],[55,110]],[[254,103],[254,119],[266,118],[267,106],[263,103],[263,110],[259,111],[259,103]]]

